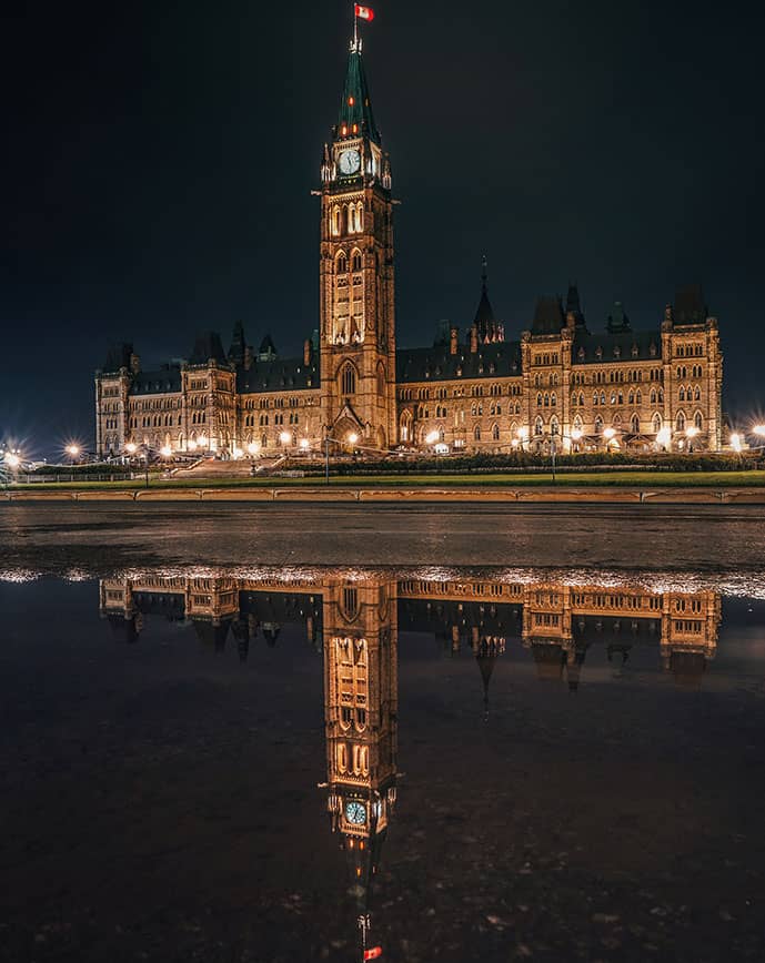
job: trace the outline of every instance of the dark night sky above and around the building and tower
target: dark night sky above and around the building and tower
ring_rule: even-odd
[[[510,337],[578,281],[661,322],[698,281],[726,408],[765,408],[762,4],[373,4],[372,98],[393,162],[399,344],[464,326],[481,254]],[[352,4],[14,4],[0,27],[0,438],[92,436],[110,343],[144,363],[318,324],[321,149]]]

